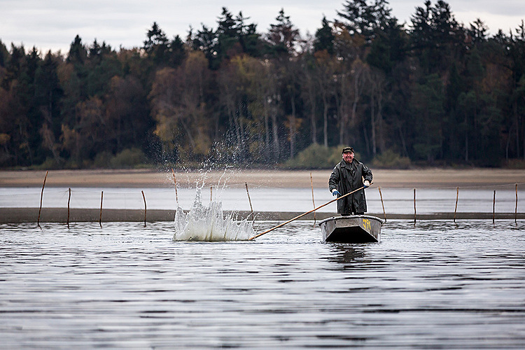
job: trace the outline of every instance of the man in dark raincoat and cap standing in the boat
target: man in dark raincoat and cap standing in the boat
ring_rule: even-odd
[[[372,182],[372,172],[363,163],[353,158],[353,148],[345,147],[342,151],[342,160],[337,164],[330,180],[328,188],[332,195],[340,197],[353,190],[368,187]],[[365,179],[363,183],[363,178]],[[365,190],[358,190],[337,201],[337,212],[342,216],[363,215],[366,211]]]

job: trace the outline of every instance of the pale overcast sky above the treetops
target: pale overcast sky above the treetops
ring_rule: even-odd
[[[90,45],[96,38],[118,49],[142,45],[146,31],[153,22],[169,38],[185,38],[188,29],[200,29],[202,24],[216,29],[217,18],[225,6],[234,15],[242,11],[255,23],[259,32],[266,33],[275,23],[279,10],[304,36],[315,34],[321,27],[323,15],[328,20],[337,18],[346,0],[0,0],[0,40],[10,50],[10,43],[36,46],[44,53],[48,50],[66,53],[78,34],[83,43]],[[436,0],[432,1],[436,3]],[[525,19],[524,0],[449,0],[458,22],[468,26],[480,18],[491,34],[503,29],[508,34]],[[371,3],[371,1],[368,1]],[[400,22],[409,23],[416,6],[424,0],[391,0],[393,15]]]

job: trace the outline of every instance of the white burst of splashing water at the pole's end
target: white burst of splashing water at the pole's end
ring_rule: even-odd
[[[255,231],[246,219],[237,222],[232,214],[223,215],[222,202],[204,207],[200,188],[190,211],[186,214],[178,207],[175,213],[174,241],[247,241],[253,236]]]

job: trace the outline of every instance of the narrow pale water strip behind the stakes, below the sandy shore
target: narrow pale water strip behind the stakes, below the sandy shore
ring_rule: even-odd
[[[518,213],[525,207],[525,192],[519,188]],[[195,188],[144,188],[148,209],[176,209],[177,203],[183,209],[190,209],[195,197]],[[514,186],[494,188],[460,188],[458,193],[458,213],[491,213],[493,209],[493,190],[496,190],[496,213],[514,213],[516,192]],[[144,209],[144,198],[138,188],[72,188],[71,208],[99,208],[102,191],[103,205],[106,209]],[[310,211],[315,206],[329,202],[334,197],[327,188],[314,188],[312,201],[311,188],[202,188],[203,203],[220,200],[223,209],[232,211]],[[381,195],[383,203],[381,204]],[[41,188],[0,188],[0,207],[38,208]],[[413,214],[414,190],[412,188],[378,188],[366,190],[369,213]],[[45,188],[44,208],[66,208],[69,200],[67,188]],[[250,206],[251,202],[251,206]],[[453,213],[456,209],[456,188],[416,189],[416,211],[418,214]],[[320,212],[337,212],[335,203],[319,209]]]

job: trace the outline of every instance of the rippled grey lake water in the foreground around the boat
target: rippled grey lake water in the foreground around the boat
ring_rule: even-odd
[[[525,344],[522,221],[388,221],[375,244],[312,221],[214,243],[169,222],[42,228],[0,225],[3,349]]]

